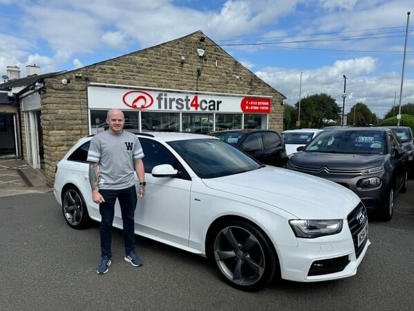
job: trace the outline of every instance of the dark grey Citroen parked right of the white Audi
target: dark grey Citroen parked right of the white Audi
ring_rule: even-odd
[[[391,220],[395,196],[407,190],[407,160],[393,130],[342,127],[321,132],[292,154],[287,168],[335,181],[359,195],[368,211]]]

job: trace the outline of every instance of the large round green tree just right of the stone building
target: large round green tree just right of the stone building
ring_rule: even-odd
[[[299,109],[299,101],[295,104]],[[328,94],[314,94],[301,99],[301,127],[321,128],[336,122],[341,108]]]

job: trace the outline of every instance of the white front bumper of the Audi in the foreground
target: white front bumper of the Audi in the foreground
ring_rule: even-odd
[[[316,282],[355,275],[370,245],[367,233],[368,217],[360,204],[348,215],[340,233],[315,239],[298,238],[297,247],[280,247],[281,277]]]

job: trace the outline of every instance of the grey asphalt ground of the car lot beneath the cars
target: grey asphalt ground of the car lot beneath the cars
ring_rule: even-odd
[[[356,276],[249,293],[226,285],[205,258],[140,236],[144,265],[134,268],[117,229],[113,264],[99,276],[99,224],[70,229],[52,189],[23,161],[1,160],[0,175],[0,311],[414,310],[413,179],[393,220],[370,221],[372,245]]]

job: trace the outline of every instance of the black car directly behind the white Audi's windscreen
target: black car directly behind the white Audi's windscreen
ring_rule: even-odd
[[[285,143],[276,130],[227,130],[209,135],[236,146],[263,164],[285,167],[288,161]]]

